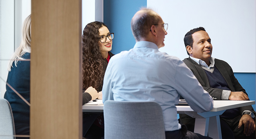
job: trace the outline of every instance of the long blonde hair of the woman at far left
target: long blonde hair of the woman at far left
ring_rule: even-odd
[[[13,62],[17,67],[17,63],[19,60],[24,60],[22,56],[28,52],[31,53],[31,14],[25,19],[22,26],[22,38],[19,47],[15,50],[11,60],[8,64],[8,71],[11,71],[13,67]]]

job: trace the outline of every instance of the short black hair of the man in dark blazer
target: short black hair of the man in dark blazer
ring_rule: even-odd
[[[194,28],[193,30],[190,30],[188,33],[186,33],[186,35],[184,36],[184,44],[185,44],[185,47],[187,47],[187,45],[191,46],[191,48],[193,48],[193,37],[192,37],[192,34],[195,33],[195,32],[198,32],[200,30],[203,30],[205,31],[205,28],[203,27],[199,27],[199,28]],[[186,49],[187,51],[187,49]],[[189,52],[187,51],[188,55],[189,55]]]

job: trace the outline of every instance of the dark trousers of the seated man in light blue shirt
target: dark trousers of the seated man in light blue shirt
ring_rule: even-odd
[[[210,137],[202,136],[198,133],[187,131],[187,127],[185,125],[182,125],[181,129],[179,130],[166,131],[165,138],[166,139],[211,139]]]

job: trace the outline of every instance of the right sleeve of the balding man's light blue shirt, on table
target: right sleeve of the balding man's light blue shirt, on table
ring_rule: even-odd
[[[175,72],[175,89],[189,106],[196,112],[210,111],[213,108],[213,98],[183,61],[177,63]]]

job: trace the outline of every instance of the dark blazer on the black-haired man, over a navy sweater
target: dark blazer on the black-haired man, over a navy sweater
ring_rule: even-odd
[[[243,89],[243,87],[237,81],[237,78],[235,78],[234,72],[233,72],[232,68],[230,67],[230,65],[228,65],[227,62],[216,59],[216,58],[214,61],[215,61],[214,66],[220,71],[221,75],[227,82],[227,85],[228,85],[228,88],[230,89],[230,91],[232,91],[232,92],[240,92],[241,91],[241,92],[244,92],[248,96],[248,94],[245,92],[245,89]],[[191,69],[191,71],[193,72],[195,77],[198,79],[199,83],[203,86],[203,88],[207,92],[209,92],[209,94],[213,98],[216,98],[214,100],[221,100],[222,89],[210,87],[205,70],[190,57],[185,58],[183,60],[183,62]],[[253,107],[251,105],[245,106],[245,107],[240,107],[241,115],[244,110],[250,110],[255,113],[255,111],[253,110]]]

